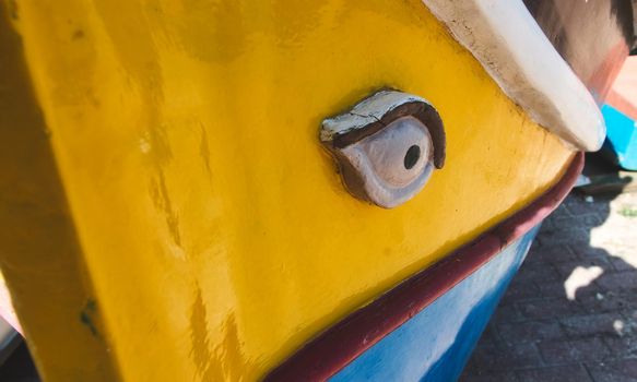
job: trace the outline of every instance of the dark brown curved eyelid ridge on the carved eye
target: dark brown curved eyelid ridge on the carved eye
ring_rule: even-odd
[[[443,166],[445,166],[447,144],[443,119],[432,105],[423,102],[404,103],[391,109],[379,120],[367,124],[363,129],[356,129],[337,134],[332,140],[332,145],[334,148],[346,147],[366,136],[375,134],[397,119],[408,116],[416,118],[423,122],[425,127],[427,127],[434,144],[434,166],[438,169],[443,168]]]

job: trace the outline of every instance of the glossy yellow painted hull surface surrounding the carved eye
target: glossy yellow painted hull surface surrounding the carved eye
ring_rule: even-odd
[[[573,156],[417,0],[3,5],[37,97],[4,123],[37,106],[50,132],[34,142],[46,166],[11,166],[59,189],[50,208],[73,234],[54,248],[55,230],[33,236],[5,272],[49,380],[258,378],[538,196]],[[390,211],[347,194],[318,142],[325,117],[382,86],[430,100],[448,142],[445,168]],[[97,335],[80,320],[92,301]],[[94,350],[52,354],[55,335]]]

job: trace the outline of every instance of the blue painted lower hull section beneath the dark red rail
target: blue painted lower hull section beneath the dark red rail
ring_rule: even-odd
[[[331,381],[456,381],[538,229],[512,242]]]

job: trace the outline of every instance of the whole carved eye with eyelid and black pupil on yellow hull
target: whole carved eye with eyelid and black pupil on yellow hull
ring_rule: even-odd
[[[380,91],[323,120],[320,140],[347,191],[384,208],[412,199],[445,164],[440,116],[425,99],[397,91]]]

